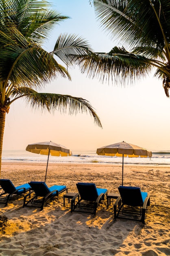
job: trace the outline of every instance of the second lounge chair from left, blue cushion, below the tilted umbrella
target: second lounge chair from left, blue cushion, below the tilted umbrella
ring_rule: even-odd
[[[42,211],[44,203],[47,202],[49,199],[54,198],[54,196],[58,196],[60,193],[63,193],[64,191],[68,192],[66,186],[54,185],[48,187],[45,182],[39,181],[31,181],[28,182],[28,184],[31,186],[32,191],[24,196],[23,207],[38,207],[41,208],[40,211]],[[29,203],[30,205],[28,205]]]

